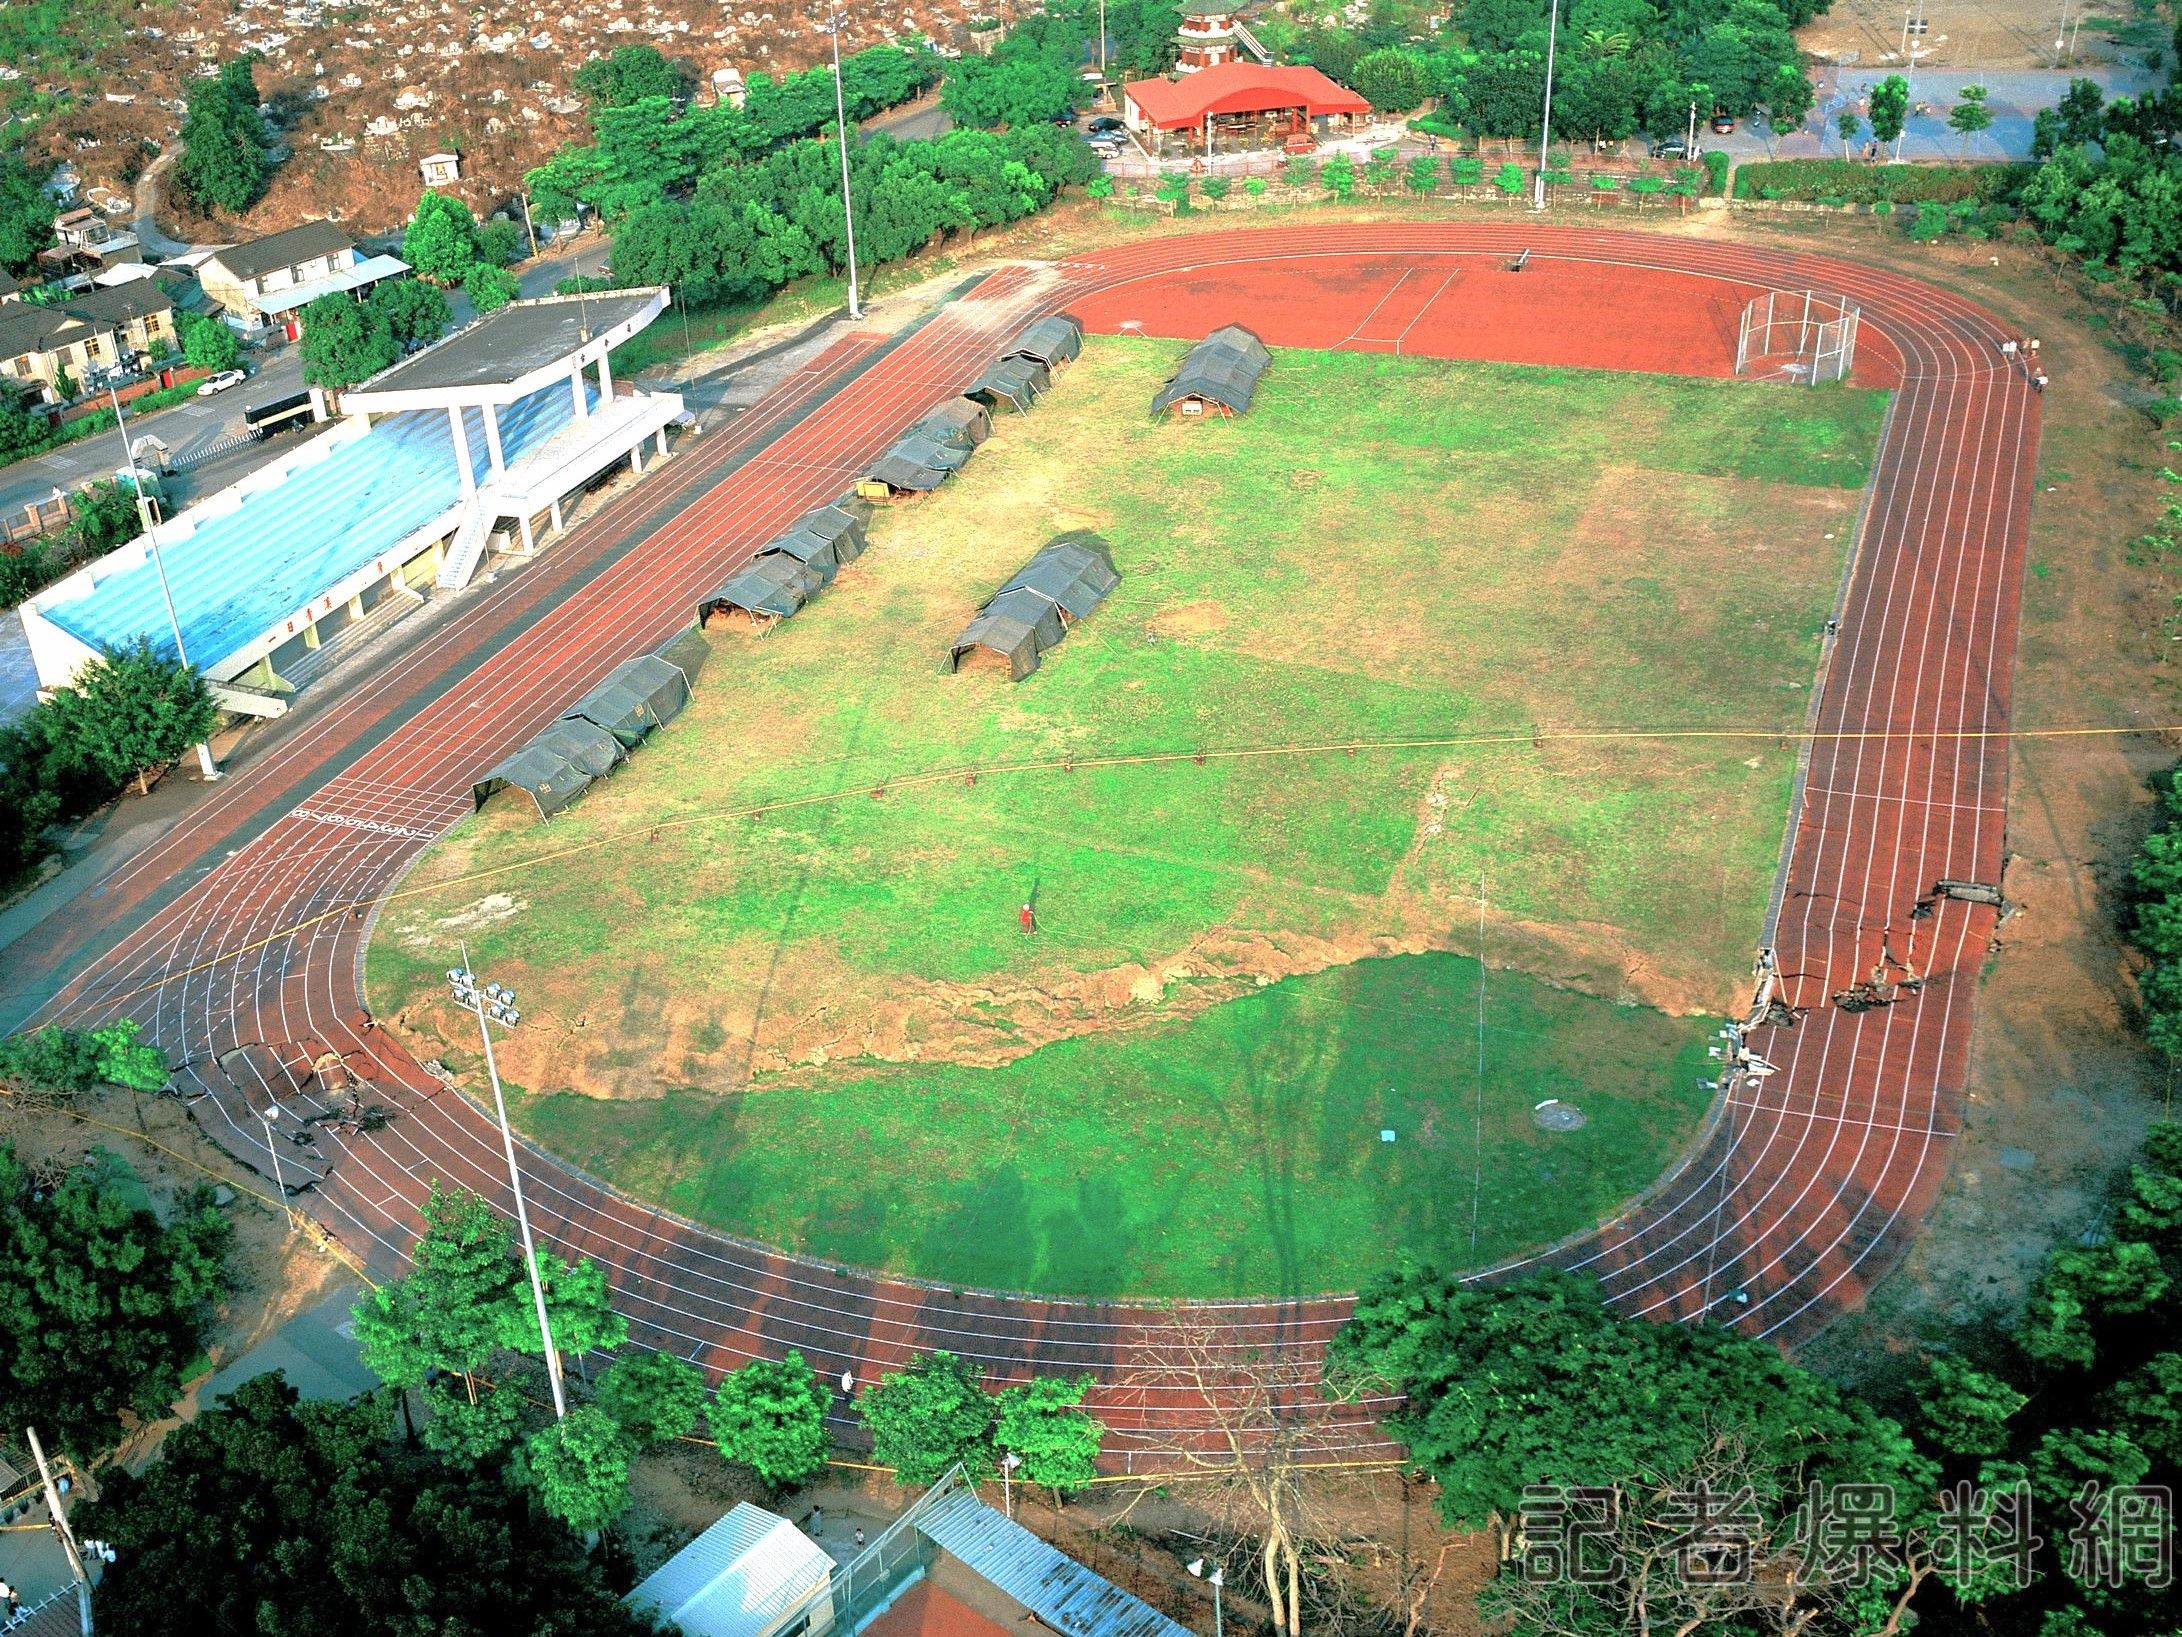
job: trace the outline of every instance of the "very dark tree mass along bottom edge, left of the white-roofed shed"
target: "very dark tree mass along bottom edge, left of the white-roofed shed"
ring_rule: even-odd
[[[639,1637],[567,1528],[497,1473],[452,1471],[384,1443],[386,1406],[297,1403],[244,1382],[168,1434],[142,1473],[100,1473],[76,1534],[111,1541],[100,1630],[524,1633]]]

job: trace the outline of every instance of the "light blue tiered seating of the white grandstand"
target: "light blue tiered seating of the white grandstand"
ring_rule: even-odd
[[[596,404],[596,389],[585,389]],[[574,415],[567,382],[500,410],[500,447],[513,463]],[[467,410],[471,469],[484,474],[484,419]],[[190,661],[209,668],[268,626],[384,557],[463,498],[445,410],[388,415],[353,443],[286,482],[242,498],[188,537],[159,541],[175,616]],[[172,653],[172,626],[148,561],[100,581],[81,598],[41,609],[92,648],[127,648],[140,635]]]

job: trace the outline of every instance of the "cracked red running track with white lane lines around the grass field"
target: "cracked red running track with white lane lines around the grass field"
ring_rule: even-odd
[[[1525,271],[1510,273],[1525,249]],[[264,1150],[238,1109],[286,1091],[279,1063],[332,1052],[358,1065],[399,1115],[375,1133],[323,1137],[332,1152],[312,1168],[323,1179],[301,1198],[393,1272],[430,1179],[489,1198],[506,1185],[478,1109],[360,1028],[369,923],[347,906],[384,895],[467,812],[476,773],[609,666],[685,624],[700,592],[794,513],[840,493],[1030,316],[1065,308],[1098,330],[1189,336],[1239,321],[1274,345],[1717,375],[1733,369],[1741,303],[1763,288],[1857,299],[1859,378],[1896,389],[1813,703],[1822,733],[1872,738],[1818,742],[1800,784],[1772,941],[1794,976],[1787,1000],[1811,1011],[1754,1039],[1778,1074],[1724,1098],[1645,1200],[1551,1259],[1597,1272],[1630,1312],[1807,1336],[1892,1266],[1959,1128],[1992,915],[1944,904],[1911,928],[1907,910],[1940,875],[1997,880],[2001,869],[2005,740],[1962,736],[2007,725],[2038,439],[2038,399],[2005,365],[1997,319],[1853,262],[1543,225],[1338,225],[1006,268],[890,351],[868,338],[836,347],[738,421],[731,443],[683,456],[679,478],[670,467],[670,504],[639,487],[576,530],[535,570],[565,565],[552,596],[530,594],[528,622],[482,600],[314,733],[216,790],[100,888],[92,917],[111,928],[100,934],[111,947],[46,1011],[142,1019],[185,1061],[192,1089],[214,1094],[196,1104],[214,1135],[255,1159]],[[456,633],[469,622],[493,640],[465,646]],[[242,836],[236,856],[192,880]],[[1833,1008],[1826,997],[1879,958],[1887,928],[1894,952],[1929,973],[1922,993],[1861,1015]],[[15,987],[22,947],[9,952]],[[635,1334],[707,1366],[796,1347],[823,1371],[868,1379],[949,1347],[999,1377],[1091,1371],[1124,1449],[1202,1412],[1202,1397],[1132,1371],[1167,1334],[1163,1312],[873,1279],[694,1227],[543,1152],[528,1155],[526,1176],[543,1235],[613,1268]],[[1303,1355],[1344,1310],[1340,1299],[1200,1307],[1237,1347]],[[1322,1449],[1381,1451],[1370,1412],[1327,1410]]]

